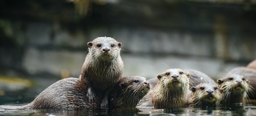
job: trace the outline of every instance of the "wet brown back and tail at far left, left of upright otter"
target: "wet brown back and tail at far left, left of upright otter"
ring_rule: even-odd
[[[100,98],[96,98],[100,101]],[[57,109],[57,108],[90,108],[99,107],[98,102],[89,103],[86,98],[86,86],[77,78],[60,80],[42,91],[28,105],[2,105],[0,109]]]

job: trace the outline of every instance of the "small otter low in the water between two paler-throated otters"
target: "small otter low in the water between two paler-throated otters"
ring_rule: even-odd
[[[222,95],[215,84],[203,83],[191,88],[188,106],[219,106]]]

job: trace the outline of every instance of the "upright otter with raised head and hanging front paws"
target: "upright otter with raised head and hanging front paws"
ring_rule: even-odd
[[[93,102],[95,91],[105,92],[101,106],[108,107],[108,94],[123,74],[120,56],[122,43],[111,37],[98,37],[88,42],[89,53],[82,66],[80,79],[88,86],[87,97]]]

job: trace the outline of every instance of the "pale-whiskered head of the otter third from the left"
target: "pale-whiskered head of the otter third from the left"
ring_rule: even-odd
[[[189,84],[190,74],[181,69],[168,69],[157,75],[157,78],[159,84],[163,84],[165,87],[182,87]]]

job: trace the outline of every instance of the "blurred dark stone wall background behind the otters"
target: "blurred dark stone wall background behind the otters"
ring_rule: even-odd
[[[0,105],[78,78],[101,36],[123,44],[123,77],[181,68],[216,80],[256,59],[256,0],[0,0]]]

